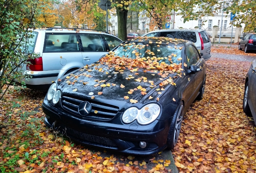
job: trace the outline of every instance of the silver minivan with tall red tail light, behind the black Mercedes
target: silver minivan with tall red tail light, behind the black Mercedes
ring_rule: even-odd
[[[183,40],[189,40],[194,42],[196,48],[199,50],[204,60],[211,58],[211,39],[205,30],[193,30],[193,29],[165,29],[152,31],[144,36],[148,37],[169,37],[169,38],[180,38]]]

